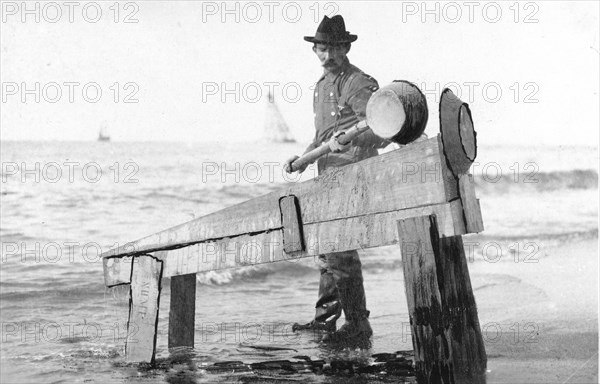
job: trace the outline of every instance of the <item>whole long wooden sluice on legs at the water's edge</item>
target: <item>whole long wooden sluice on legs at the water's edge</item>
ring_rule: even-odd
[[[404,126],[415,111],[398,84],[378,92],[390,87]],[[373,107],[375,95],[369,125],[394,108],[389,99]],[[171,278],[168,346],[193,347],[196,273],[399,244],[418,382],[484,382],[487,358],[462,242],[483,230],[468,173],[476,139],[468,105],[448,89],[440,131],[103,254],[106,286],[131,287],[128,326],[138,332],[135,343],[126,341],[127,360],[154,361],[162,277]]]

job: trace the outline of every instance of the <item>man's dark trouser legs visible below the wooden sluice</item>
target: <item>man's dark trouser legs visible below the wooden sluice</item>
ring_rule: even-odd
[[[357,251],[319,256],[321,278],[315,321],[335,322],[344,311],[346,321],[367,318],[362,264]]]

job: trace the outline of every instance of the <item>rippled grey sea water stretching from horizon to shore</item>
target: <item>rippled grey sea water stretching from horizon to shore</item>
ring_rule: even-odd
[[[399,250],[390,246],[361,254],[375,331],[369,350],[331,351],[291,332],[312,316],[318,289],[317,266],[303,259],[198,274],[195,349],[167,350],[162,311],[158,364],[126,364],[128,288],[104,287],[98,255],[313,177],[314,169],[300,179],[281,169],[304,145],[2,142],[0,149],[2,382],[245,382],[247,372],[207,367],[298,355],[366,361],[412,349]],[[545,247],[597,237],[597,148],[481,146],[472,173],[485,231],[464,237],[474,245],[469,262],[535,259]]]

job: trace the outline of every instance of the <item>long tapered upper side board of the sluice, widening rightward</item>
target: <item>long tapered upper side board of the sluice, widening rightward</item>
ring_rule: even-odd
[[[281,229],[279,199],[298,199],[302,223],[440,204],[458,197],[439,136],[200,217],[102,254],[136,255]],[[455,183],[456,181],[454,181]]]

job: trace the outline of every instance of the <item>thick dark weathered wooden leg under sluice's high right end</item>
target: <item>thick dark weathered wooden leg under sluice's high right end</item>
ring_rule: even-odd
[[[435,216],[398,221],[419,383],[485,383],[487,357],[461,236]]]

